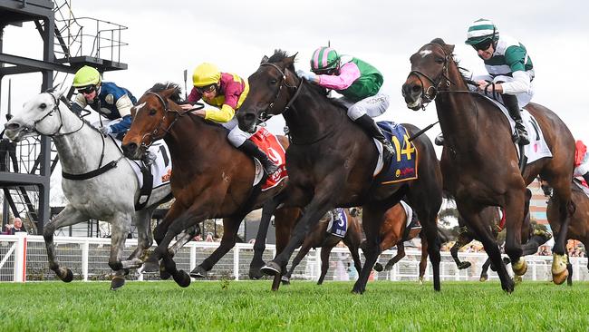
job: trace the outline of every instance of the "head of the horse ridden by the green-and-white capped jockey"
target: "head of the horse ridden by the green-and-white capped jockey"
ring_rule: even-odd
[[[453,51],[454,45],[436,38],[411,55],[411,72],[401,89],[408,108],[413,111],[425,109],[439,91],[449,88],[449,64],[454,62]]]

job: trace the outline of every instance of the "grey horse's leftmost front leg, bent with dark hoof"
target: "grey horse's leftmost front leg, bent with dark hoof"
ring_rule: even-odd
[[[57,259],[57,255],[55,254],[53,234],[57,229],[61,229],[66,226],[72,226],[89,219],[90,218],[83,215],[80,211],[75,210],[72,205],[68,204],[65,206],[65,209],[63,209],[63,211],[60,212],[53,220],[46,224],[43,229],[43,239],[45,239],[45,247],[47,248],[49,269],[53,270],[57,277],[64,282],[72,281],[73,273],[71,269],[60,267],[59,259]]]

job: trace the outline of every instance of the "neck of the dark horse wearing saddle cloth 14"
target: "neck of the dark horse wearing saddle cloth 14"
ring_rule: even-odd
[[[313,142],[339,127],[343,111],[331,103],[327,97],[314,92],[303,83],[304,89],[294,101],[290,110],[283,113],[286,125],[294,141]]]

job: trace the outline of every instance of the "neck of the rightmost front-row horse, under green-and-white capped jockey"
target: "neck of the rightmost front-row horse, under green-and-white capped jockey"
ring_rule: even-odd
[[[449,92],[440,92],[436,98],[439,125],[444,132],[444,140],[449,142],[477,142],[478,106],[464,83],[456,63],[449,66],[449,79],[452,82]]]

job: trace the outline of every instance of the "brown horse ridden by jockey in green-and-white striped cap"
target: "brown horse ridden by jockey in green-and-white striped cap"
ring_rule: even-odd
[[[526,273],[522,259],[521,227],[524,220],[526,185],[540,174],[555,189],[561,203],[559,221],[564,229],[555,235],[553,280],[566,278],[565,239],[570,215],[575,210],[571,200],[575,141],[558,116],[546,107],[529,103],[532,113],[552,151],[544,158],[526,165],[523,174],[511,140],[507,118],[497,106],[468,89],[468,80],[459,71],[453,57],[454,45],[437,38],[411,55],[411,71],[401,92],[407,106],[414,111],[436,102],[439,124],[444,133],[441,168],[444,188],[456,197],[459,213],[482,239],[485,250],[497,267],[501,287],[514,289],[501,260],[497,242],[484,229],[480,213],[487,206],[506,211],[506,252],[517,275]]]

